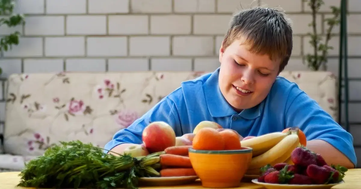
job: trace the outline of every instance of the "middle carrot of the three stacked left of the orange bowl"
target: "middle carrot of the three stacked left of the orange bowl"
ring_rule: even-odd
[[[188,157],[173,154],[162,154],[159,157],[162,166],[192,167],[191,160]]]

